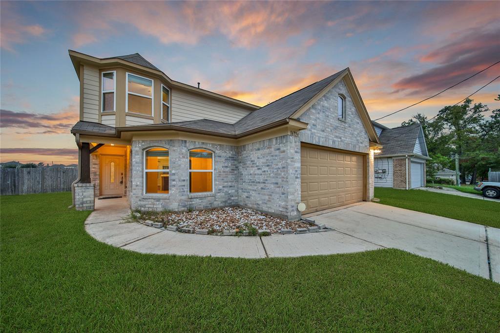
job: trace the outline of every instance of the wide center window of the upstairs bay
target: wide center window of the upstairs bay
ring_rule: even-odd
[[[127,112],[153,115],[153,80],[126,73]]]

